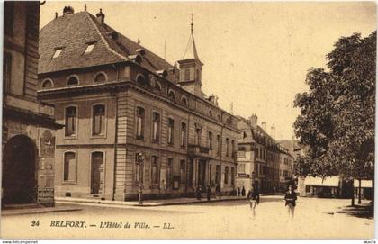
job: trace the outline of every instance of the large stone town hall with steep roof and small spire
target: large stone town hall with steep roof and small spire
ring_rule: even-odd
[[[40,32],[39,97],[56,106],[56,194],[110,200],[234,191],[238,119],[202,93],[193,25],[179,67],[86,11]],[[184,45],[183,45],[184,50]]]

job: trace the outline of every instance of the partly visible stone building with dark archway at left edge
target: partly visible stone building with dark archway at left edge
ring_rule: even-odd
[[[54,200],[54,109],[37,101],[40,2],[4,2],[2,207]]]

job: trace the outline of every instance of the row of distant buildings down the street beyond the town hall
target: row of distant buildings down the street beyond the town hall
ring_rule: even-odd
[[[266,122],[257,125],[256,114],[238,119],[236,185],[248,191],[255,184],[263,193],[284,190],[293,176],[293,157],[266,132]]]

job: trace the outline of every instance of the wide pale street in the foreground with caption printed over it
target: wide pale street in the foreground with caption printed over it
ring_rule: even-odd
[[[49,239],[373,239],[374,219],[337,212],[349,203],[347,199],[299,198],[293,221],[288,220],[282,195],[263,196],[256,219],[245,200],[154,207],[78,205],[83,210],[4,216],[1,235]],[[39,221],[39,226],[31,227],[32,221]],[[69,227],[69,222],[65,228],[51,227],[51,221],[55,226],[85,221],[86,227]],[[122,225],[101,228],[110,226],[105,222]],[[124,228],[128,224],[130,227]]]

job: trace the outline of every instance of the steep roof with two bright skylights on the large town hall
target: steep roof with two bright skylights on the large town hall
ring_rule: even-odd
[[[116,33],[117,38],[112,38],[112,33]],[[92,42],[95,42],[94,50],[83,54]],[[60,56],[51,59],[58,48],[63,48]],[[139,49],[145,50],[140,63],[143,68],[152,72],[173,68],[165,59],[107,24],[99,23],[92,14],[65,14],[40,30],[39,73],[124,62],[130,60],[130,55],[137,55]]]

